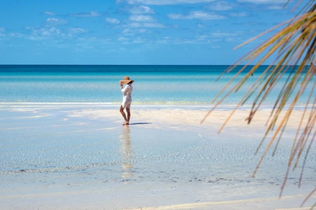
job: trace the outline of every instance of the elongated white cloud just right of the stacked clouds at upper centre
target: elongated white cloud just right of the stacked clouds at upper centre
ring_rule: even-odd
[[[167,15],[170,19],[200,19],[200,20],[219,20],[224,19],[225,16],[217,15],[215,13],[207,13],[203,11],[193,11],[190,12],[188,15],[182,15],[182,14],[169,14]]]

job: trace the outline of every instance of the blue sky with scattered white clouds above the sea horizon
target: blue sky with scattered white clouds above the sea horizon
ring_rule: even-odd
[[[0,64],[232,64],[286,1],[0,0]]]

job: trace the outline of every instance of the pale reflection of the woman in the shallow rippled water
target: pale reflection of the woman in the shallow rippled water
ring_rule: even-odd
[[[120,142],[121,142],[121,155],[122,155],[122,169],[129,170],[133,167],[131,163],[132,159],[132,150],[131,150],[131,136],[130,136],[130,127],[124,126],[124,130],[121,132],[120,135]],[[131,171],[124,171],[122,173],[122,178],[130,178],[133,174]]]

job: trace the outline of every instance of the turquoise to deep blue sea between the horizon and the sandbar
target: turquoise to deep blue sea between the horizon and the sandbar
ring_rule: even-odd
[[[122,100],[119,80],[129,76],[134,104],[210,104],[241,66],[227,65],[0,65],[0,103],[108,103]],[[223,104],[236,104],[267,66]],[[250,68],[248,68],[250,69]],[[287,73],[286,73],[287,74]],[[244,74],[242,74],[244,75]],[[240,79],[239,77],[238,79]],[[283,83],[264,102],[276,100]],[[234,82],[232,85],[236,84]],[[308,87],[309,89],[309,87]],[[251,99],[248,104],[251,104]],[[307,94],[299,100],[304,104]]]

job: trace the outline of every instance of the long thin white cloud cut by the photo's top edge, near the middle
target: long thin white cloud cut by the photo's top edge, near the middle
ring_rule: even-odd
[[[122,0],[118,0],[121,2]],[[129,4],[149,4],[149,5],[171,5],[171,4],[194,4],[207,3],[214,0],[126,0]]]

